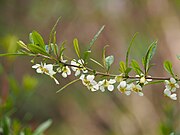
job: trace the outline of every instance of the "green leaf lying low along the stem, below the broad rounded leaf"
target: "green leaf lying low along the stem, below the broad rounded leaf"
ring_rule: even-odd
[[[33,45],[33,44],[29,44],[28,45],[28,49],[34,53],[34,54],[43,54],[43,55],[46,55],[46,56],[49,56],[49,54],[44,50],[42,49],[41,47],[37,46],[37,45]]]

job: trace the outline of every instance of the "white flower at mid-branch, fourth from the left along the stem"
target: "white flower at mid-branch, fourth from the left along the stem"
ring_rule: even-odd
[[[99,89],[99,85],[97,82],[94,80],[95,76],[94,75],[87,75],[85,76],[82,74],[80,76],[80,79],[82,80],[82,83],[91,91],[97,91]]]

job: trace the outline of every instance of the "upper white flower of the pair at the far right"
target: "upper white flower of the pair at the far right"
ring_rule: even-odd
[[[165,87],[171,92],[175,92],[176,89],[179,88],[179,84],[174,78],[170,78],[170,80],[165,80]]]

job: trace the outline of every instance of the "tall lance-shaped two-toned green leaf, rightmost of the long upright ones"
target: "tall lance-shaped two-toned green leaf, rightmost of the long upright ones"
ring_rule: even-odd
[[[157,41],[153,42],[153,43],[149,46],[149,48],[148,48],[148,50],[147,50],[147,53],[146,53],[145,57],[143,58],[143,65],[144,65],[145,74],[146,74],[147,71],[148,71],[149,63],[150,63],[152,57],[153,57],[154,54],[155,54],[156,48],[157,48]]]

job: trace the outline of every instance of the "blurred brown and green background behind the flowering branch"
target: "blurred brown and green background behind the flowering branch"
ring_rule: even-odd
[[[139,32],[131,58],[141,61],[148,45],[158,40],[151,76],[169,76],[163,61],[170,60],[180,74],[179,0],[0,0],[0,53],[15,52],[17,40],[28,43],[36,30],[48,42],[59,16],[57,42],[67,40],[66,55],[76,57],[72,41],[84,50],[94,34],[106,25],[93,46],[93,58],[101,61],[102,48],[110,45],[115,56],[111,72],[118,74],[120,60],[132,36]],[[55,85],[36,74],[28,57],[0,58],[0,117],[10,115],[22,125],[36,128],[47,119],[53,124],[47,135],[169,135],[180,134],[180,100],[163,96],[164,85],[144,88],[144,96],[90,92],[80,82],[56,91],[73,79]],[[92,65],[96,68],[94,65]],[[179,93],[179,92],[178,92]],[[18,124],[16,124],[18,125]]]

